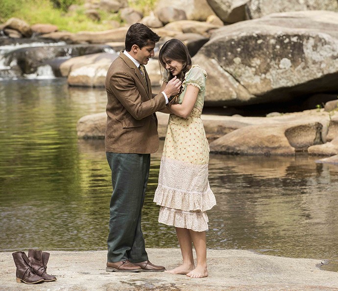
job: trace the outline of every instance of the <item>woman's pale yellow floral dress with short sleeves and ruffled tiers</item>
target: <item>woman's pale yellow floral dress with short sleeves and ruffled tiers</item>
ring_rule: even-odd
[[[154,202],[161,205],[162,224],[208,229],[206,210],[216,205],[208,181],[209,143],[200,118],[207,73],[197,65],[186,73],[178,103],[188,85],[199,89],[193,111],[187,118],[170,114]]]

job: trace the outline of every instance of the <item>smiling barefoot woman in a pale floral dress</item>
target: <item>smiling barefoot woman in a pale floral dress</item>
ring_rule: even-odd
[[[183,264],[169,272],[202,278],[208,276],[205,211],[216,204],[208,182],[209,143],[200,118],[207,74],[192,65],[187,47],[176,39],[162,46],[159,59],[166,69],[163,88],[175,76],[183,82],[177,101],[167,106],[170,116],[154,202],[161,205],[159,222],[175,226],[182,252]]]

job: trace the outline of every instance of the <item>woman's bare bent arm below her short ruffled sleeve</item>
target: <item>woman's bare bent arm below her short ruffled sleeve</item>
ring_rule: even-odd
[[[177,116],[187,118],[193,111],[193,106],[196,103],[199,89],[193,85],[188,85],[184,95],[182,104],[167,105],[167,108]]]

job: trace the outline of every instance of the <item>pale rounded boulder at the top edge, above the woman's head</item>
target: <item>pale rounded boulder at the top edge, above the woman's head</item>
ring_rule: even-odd
[[[207,0],[159,0],[155,13],[171,9],[170,7],[183,10],[188,20],[206,21],[208,16],[215,15]]]

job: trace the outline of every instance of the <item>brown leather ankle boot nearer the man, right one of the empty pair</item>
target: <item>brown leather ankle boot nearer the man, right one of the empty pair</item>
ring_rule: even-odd
[[[43,277],[45,282],[51,282],[56,280],[54,276],[48,275],[46,273],[47,263],[49,260],[48,252],[37,249],[29,249],[28,258],[30,263],[32,264],[34,272]]]

